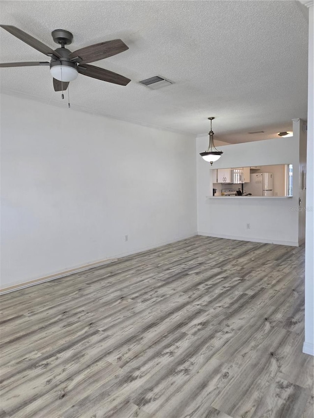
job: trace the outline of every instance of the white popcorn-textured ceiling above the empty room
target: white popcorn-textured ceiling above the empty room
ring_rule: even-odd
[[[97,65],[131,78],[125,87],[83,75],[70,83],[73,109],[202,134],[274,138],[307,119],[307,9],[299,1],[1,1],[1,24],[57,48],[53,29],[74,35],[70,50],[121,38],[129,50]],[[0,28],[0,61],[49,57]],[[159,75],[174,84],[151,90]],[[3,92],[61,105],[49,67],[1,68]],[[265,131],[250,135],[247,132]]]

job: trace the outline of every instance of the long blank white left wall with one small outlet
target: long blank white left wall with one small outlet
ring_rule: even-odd
[[[192,136],[2,95],[1,159],[1,287],[197,233]]]

